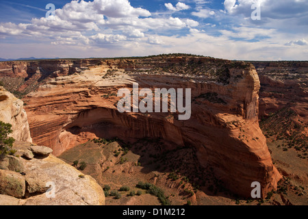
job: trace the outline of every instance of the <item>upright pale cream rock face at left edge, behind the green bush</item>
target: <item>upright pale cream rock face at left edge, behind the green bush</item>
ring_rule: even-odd
[[[12,138],[32,142],[23,101],[0,86],[0,120],[12,124]]]

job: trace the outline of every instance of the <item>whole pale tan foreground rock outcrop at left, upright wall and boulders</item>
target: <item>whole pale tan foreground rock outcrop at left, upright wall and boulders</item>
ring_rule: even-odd
[[[12,124],[17,140],[16,153],[0,157],[0,205],[104,205],[97,181],[81,178],[81,172],[51,155],[52,149],[31,144],[23,101],[2,87],[0,120]],[[55,196],[47,196],[48,190]]]

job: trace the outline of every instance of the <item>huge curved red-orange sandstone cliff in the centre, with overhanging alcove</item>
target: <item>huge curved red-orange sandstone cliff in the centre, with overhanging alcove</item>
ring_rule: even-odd
[[[192,146],[200,164],[214,168],[216,177],[241,196],[251,195],[253,181],[261,183],[262,196],[277,188],[281,175],[259,129],[254,66],[208,57],[79,62],[78,68],[68,62],[75,68],[60,70],[60,77],[50,77],[23,99],[34,142],[51,147],[54,155],[94,137],[162,138],[170,149]],[[140,89],[191,88],[192,117],[120,114],[114,94],[131,89],[133,82]]]

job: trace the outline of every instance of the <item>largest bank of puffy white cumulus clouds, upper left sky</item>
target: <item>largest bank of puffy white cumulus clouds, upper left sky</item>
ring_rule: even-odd
[[[173,7],[173,6],[172,6]],[[189,6],[177,3],[175,10]],[[128,0],[74,0],[55,10],[55,16],[33,18],[31,23],[0,23],[0,38],[8,36],[51,40],[52,44],[97,45],[147,40],[147,32],[155,34],[196,27],[198,22],[188,18],[152,17],[151,12],[131,6]]]

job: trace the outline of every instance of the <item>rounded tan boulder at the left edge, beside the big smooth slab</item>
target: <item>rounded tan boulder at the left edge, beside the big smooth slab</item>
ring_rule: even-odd
[[[23,198],[25,188],[25,177],[21,174],[10,170],[0,170],[0,194]]]

